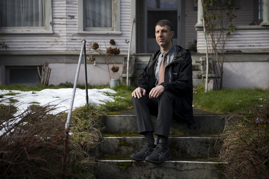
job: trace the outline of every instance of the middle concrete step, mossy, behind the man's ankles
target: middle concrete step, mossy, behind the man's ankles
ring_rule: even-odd
[[[157,137],[157,136],[155,136]],[[146,140],[143,135],[103,137],[100,151],[104,155],[131,155],[140,151]],[[214,157],[215,139],[203,136],[170,136],[170,154],[177,157]]]

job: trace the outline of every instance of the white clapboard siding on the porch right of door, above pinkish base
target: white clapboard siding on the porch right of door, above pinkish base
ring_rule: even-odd
[[[229,35],[225,51],[241,51],[241,52],[263,52],[269,49],[269,29],[263,26],[249,25],[255,20],[254,1],[239,1],[239,8],[234,14],[234,24],[236,31]],[[208,49],[210,49],[210,37],[208,39]],[[197,51],[205,53],[205,36],[203,29],[197,31]]]

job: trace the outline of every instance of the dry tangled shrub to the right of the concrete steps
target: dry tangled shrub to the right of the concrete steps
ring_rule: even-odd
[[[220,158],[228,178],[269,177],[269,100],[228,115]]]

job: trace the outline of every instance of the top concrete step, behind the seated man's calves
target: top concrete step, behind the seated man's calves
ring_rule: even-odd
[[[156,119],[152,116],[154,126]],[[223,128],[224,121],[222,115],[194,115],[194,119],[189,122],[173,120],[171,131],[185,134],[216,134]],[[105,127],[104,133],[138,133],[135,115],[107,115],[103,117],[102,124]]]

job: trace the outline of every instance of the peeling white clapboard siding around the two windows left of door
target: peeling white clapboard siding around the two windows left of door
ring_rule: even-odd
[[[121,52],[128,51],[128,40],[130,39],[130,0],[121,0],[121,34],[79,34],[78,33],[78,6],[80,0],[52,0],[52,30],[53,33],[17,33],[0,34],[0,39],[9,46],[1,51],[57,51],[76,52],[81,50],[82,40],[86,40],[86,47],[89,51],[92,42],[98,42],[102,48],[105,43],[110,46],[109,41],[114,39],[115,47]]]

